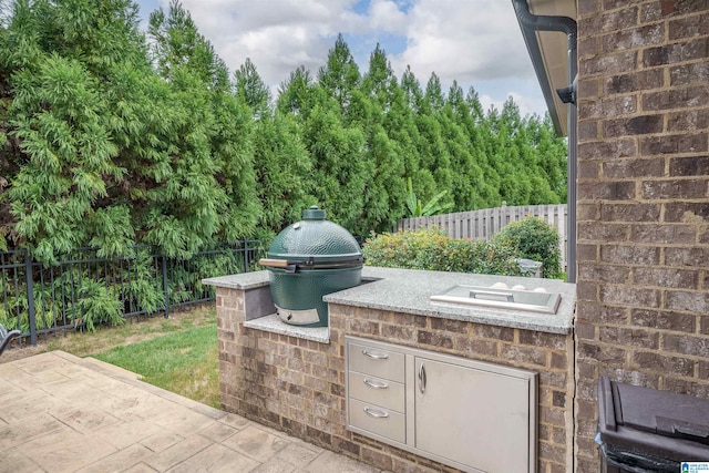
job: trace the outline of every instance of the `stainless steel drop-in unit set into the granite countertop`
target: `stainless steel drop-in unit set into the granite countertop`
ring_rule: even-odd
[[[561,300],[559,294],[546,292],[543,289],[515,290],[464,285],[453,286],[441,294],[431,296],[433,304],[482,306],[543,313],[556,313]]]

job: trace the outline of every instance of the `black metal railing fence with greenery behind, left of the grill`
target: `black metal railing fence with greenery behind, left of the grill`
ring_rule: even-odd
[[[175,308],[214,300],[214,288],[203,278],[254,270],[267,249],[264,241],[243,240],[168,258],[145,246],[120,257],[76,248],[53,266],[32,260],[24,249],[0,251],[0,323],[21,330],[20,343],[35,345],[110,321],[109,313],[167,317]]]

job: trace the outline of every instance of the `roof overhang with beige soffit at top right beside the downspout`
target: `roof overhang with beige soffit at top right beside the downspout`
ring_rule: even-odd
[[[530,12],[535,16],[568,17],[576,19],[576,0],[527,0]],[[517,18],[517,21],[520,19]],[[530,31],[520,23],[534,71],[540,81],[546,106],[559,135],[566,135],[568,105],[562,102],[557,89],[568,86],[568,42],[558,31]]]

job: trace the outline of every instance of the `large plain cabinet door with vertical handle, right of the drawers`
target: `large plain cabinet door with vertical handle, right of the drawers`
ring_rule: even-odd
[[[534,471],[530,379],[422,357],[414,366],[418,450],[489,473]]]

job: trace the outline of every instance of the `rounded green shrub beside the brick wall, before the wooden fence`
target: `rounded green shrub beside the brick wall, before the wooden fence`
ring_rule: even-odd
[[[543,277],[561,277],[562,251],[558,248],[558,233],[541,218],[528,216],[513,222],[500,230],[493,241],[514,246],[522,258],[542,261]]]

